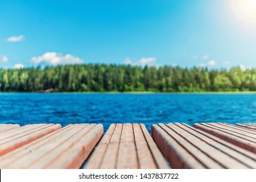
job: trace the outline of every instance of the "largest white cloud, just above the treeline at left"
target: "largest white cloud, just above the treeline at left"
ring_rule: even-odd
[[[55,52],[49,52],[44,53],[44,55],[41,55],[39,57],[33,57],[31,59],[31,62],[34,64],[51,64],[51,65],[57,65],[57,64],[82,64],[83,60],[79,57],[74,57],[73,55],[67,54],[63,55],[61,53],[55,53]]]

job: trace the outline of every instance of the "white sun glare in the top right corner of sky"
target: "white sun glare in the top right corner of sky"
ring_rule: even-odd
[[[232,0],[236,14],[249,22],[256,22],[256,0]]]

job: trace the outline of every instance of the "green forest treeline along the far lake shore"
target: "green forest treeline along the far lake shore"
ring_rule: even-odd
[[[0,70],[1,92],[208,92],[254,91],[256,69],[160,68],[79,64]]]

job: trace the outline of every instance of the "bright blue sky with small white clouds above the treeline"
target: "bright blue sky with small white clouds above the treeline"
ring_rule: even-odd
[[[0,68],[256,67],[256,0],[0,0]]]

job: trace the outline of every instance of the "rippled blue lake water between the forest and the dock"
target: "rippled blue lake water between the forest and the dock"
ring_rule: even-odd
[[[255,94],[0,94],[0,123],[255,121]]]

